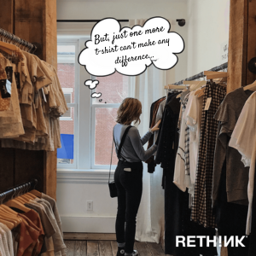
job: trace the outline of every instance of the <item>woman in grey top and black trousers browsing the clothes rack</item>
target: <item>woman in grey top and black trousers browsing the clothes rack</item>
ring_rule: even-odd
[[[125,98],[121,103],[116,119],[118,124],[113,127],[113,138],[117,154],[126,128],[133,121],[135,121],[135,124],[137,122],[140,123],[141,113],[142,103],[137,99]],[[157,149],[157,145],[154,144],[145,151],[143,145],[153,136],[154,131],[159,130],[159,124],[160,121],[152,129],[149,129],[142,138],[137,128],[131,126],[120,149],[119,163],[114,172],[114,181],[118,191],[118,212],[115,224],[118,242],[117,256],[138,255],[137,251],[133,250],[133,245],[137,210],[143,193],[142,161],[148,160]]]

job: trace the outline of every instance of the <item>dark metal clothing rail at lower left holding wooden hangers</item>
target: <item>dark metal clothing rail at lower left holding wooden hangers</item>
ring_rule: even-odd
[[[18,195],[24,195],[32,189],[35,189],[37,183],[38,180],[33,179],[31,182],[23,183],[19,186],[0,193],[0,204],[3,204],[3,202],[9,201],[10,199],[15,198]]]

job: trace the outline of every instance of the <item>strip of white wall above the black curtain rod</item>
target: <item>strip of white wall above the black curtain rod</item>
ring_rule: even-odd
[[[160,15],[180,19],[186,14],[182,0],[57,0],[58,20],[146,19]]]

